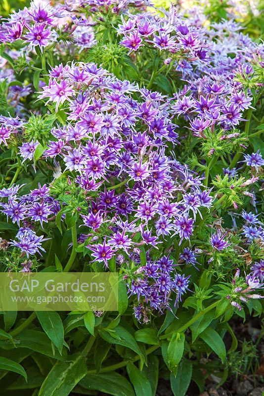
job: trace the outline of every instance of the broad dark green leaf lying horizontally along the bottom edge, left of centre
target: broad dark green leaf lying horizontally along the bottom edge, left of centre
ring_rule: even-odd
[[[80,381],[79,385],[85,389],[96,390],[107,395],[135,395],[129,381],[115,371],[102,374],[88,374]]]

